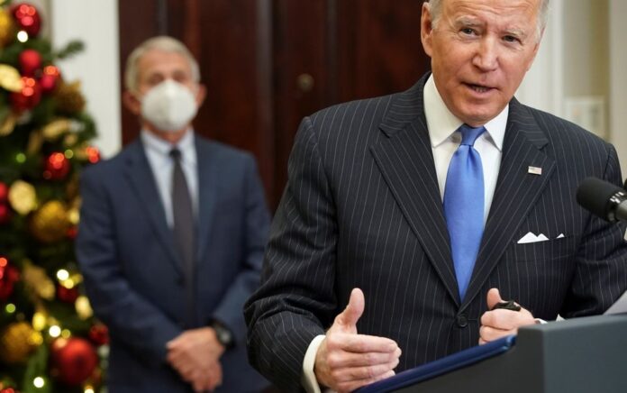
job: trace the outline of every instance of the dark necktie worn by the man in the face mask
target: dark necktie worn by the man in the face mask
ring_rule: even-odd
[[[174,160],[172,172],[172,215],[174,217],[174,241],[177,245],[186,283],[186,320],[188,324],[194,321],[194,244],[195,223],[192,198],[189,194],[185,173],[181,167],[181,152],[177,149],[170,151]]]

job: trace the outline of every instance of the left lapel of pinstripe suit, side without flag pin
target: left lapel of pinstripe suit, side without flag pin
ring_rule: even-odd
[[[391,103],[380,125],[387,138],[382,138],[370,151],[413,233],[450,297],[459,305],[449,233],[424,117],[423,87],[426,78],[428,76]]]

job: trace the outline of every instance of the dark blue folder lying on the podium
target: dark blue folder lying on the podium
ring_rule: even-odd
[[[385,393],[404,388],[504,353],[512,348],[515,342],[516,336],[508,335],[494,342],[477,345],[476,347],[453,353],[414,369],[404,370],[394,377],[379,380],[373,384],[359,388],[355,390],[355,393]]]

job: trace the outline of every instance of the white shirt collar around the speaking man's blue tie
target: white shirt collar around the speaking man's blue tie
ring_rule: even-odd
[[[427,79],[424,85],[424,115],[427,120],[429,129],[429,138],[431,139],[432,148],[439,146],[442,142],[450,138],[463,123],[455,114],[452,114],[449,108],[444,104],[440,92],[435,86],[433,75]],[[486,124],[487,138],[492,142],[496,149],[503,151],[503,140],[505,137],[505,128],[507,126],[507,117],[509,114],[509,104],[505,105],[503,111]]]

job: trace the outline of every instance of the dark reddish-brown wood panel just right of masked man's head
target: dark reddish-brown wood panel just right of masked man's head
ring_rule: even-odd
[[[195,120],[198,133],[251,151],[269,192],[274,185],[270,3],[199,2],[193,41],[207,99]],[[188,29],[188,25],[186,25]],[[185,34],[182,34],[185,36]]]

